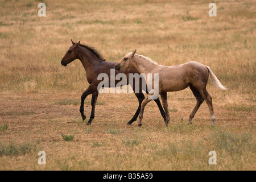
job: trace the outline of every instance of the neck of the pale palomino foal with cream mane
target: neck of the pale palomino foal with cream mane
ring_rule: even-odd
[[[141,73],[152,73],[152,70],[159,67],[154,61],[147,59],[147,57],[135,55],[133,59],[133,67]]]

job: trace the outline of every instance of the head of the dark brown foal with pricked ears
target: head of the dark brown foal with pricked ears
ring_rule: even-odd
[[[80,41],[78,43],[75,43],[71,39],[71,42],[72,42],[72,46],[69,47],[67,53],[65,54],[65,56],[61,60],[61,65],[63,65],[64,67],[67,66],[67,64],[71,63],[73,60],[78,59],[78,57],[77,57],[77,47],[79,46]]]

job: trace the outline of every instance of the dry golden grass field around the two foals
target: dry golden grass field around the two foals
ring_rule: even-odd
[[[46,17],[38,16],[40,2]],[[256,2],[214,1],[210,17],[211,2],[0,0],[0,170],[255,170]],[[216,124],[204,102],[188,125],[196,99],[187,88],[168,93],[168,127],[155,102],[142,127],[127,126],[138,101],[118,93],[99,95],[86,126],[84,68],[79,60],[60,64],[70,39],[108,61],[136,48],[162,65],[208,65],[228,88],[208,82]],[[46,165],[38,164],[39,151]]]

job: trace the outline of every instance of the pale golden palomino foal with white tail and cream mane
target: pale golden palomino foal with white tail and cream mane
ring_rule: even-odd
[[[158,65],[148,57],[137,55],[135,53],[136,50],[133,53],[127,53],[125,57],[115,64],[115,69],[117,71],[121,71],[127,68],[135,68],[140,74],[158,74],[159,81],[155,86],[158,86],[158,93],[162,98],[162,104],[164,111],[166,112],[166,125],[170,121],[167,104],[167,92],[183,90],[188,86],[192,90],[197,101],[195,108],[189,115],[188,122],[192,123],[192,119],[196,114],[197,109],[199,109],[200,105],[205,100],[210,110],[211,123],[214,125],[215,117],[213,113],[212,97],[210,97],[206,90],[209,75],[215,86],[222,90],[226,90],[226,88],[221,84],[220,81],[218,81],[218,78],[213,74],[209,67],[195,61],[167,67]],[[154,77],[152,77],[152,79],[154,79]],[[148,91],[150,93],[150,90]],[[148,99],[148,96],[146,96],[142,102],[138,126],[142,125],[141,121],[143,118],[144,107],[150,101],[151,100]]]

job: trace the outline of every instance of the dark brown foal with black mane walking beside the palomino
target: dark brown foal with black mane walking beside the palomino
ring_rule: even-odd
[[[110,77],[110,69],[114,69],[114,65],[116,62],[109,62],[106,61],[105,59],[102,58],[100,53],[92,47],[86,46],[84,44],[80,44],[80,42],[75,43],[73,40],[71,40],[72,46],[69,47],[67,53],[61,60],[61,65],[64,67],[67,66],[67,64],[71,63],[75,59],[79,59],[84,66],[84,69],[86,71],[86,78],[87,81],[89,82],[89,87],[88,89],[85,90],[84,93],[82,93],[81,96],[81,106],[80,106],[80,113],[82,116],[82,119],[85,120],[85,114],[84,114],[84,100],[85,98],[89,95],[92,94],[92,111],[90,114],[90,119],[86,123],[86,125],[90,125],[90,123],[94,119],[94,111],[95,111],[95,105],[98,97],[98,89],[97,86],[101,82],[101,80],[97,80],[97,76],[100,73],[106,73]],[[129,83],[129,73],[138,73],[136,69],[134,68],[128,68],[123,70],[122,72],[115,71],[115,75],[118,73],[124,73],[127,76],[127,84]],[[141,82],[141,80],[140,80]],[[117,84],[117,81],[115,81],[115,85]],[[134,83],[135,84],[135,83]],[[138,84],[137,84],[138,85]],[[133,90],[135,89],[134,85],[131,85]],[[133,118],[127,123],[127,125],[131,125],[134,121],[137,120],[137,117],[139,115],[139,111],[141,111],[141,103],[144,100],[144,94],[141,89],[141,84],[139,84],[140,90],[139,93],[135,93],[136,97],[138,98],[139,101],[139,107],[134,114]],[[144,90],[145,92],[147,90]],[[159,107],[160,113],[162,114],[162,117],[164,120],[166,120],[166,115],[164,113],[163,107],[160,103],[160,100],[155,100],[156,104]]]

